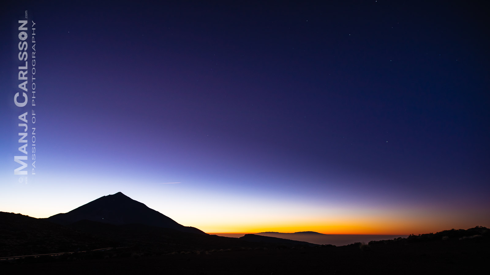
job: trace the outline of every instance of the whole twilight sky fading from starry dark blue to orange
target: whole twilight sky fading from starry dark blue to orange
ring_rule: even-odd
[[[261,2],[2,4],[0,210],[121,191],[205,232],[490,227],[488,3]]]

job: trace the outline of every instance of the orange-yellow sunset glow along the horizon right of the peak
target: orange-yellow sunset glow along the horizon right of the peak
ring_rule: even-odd
[[[430,209],[430,210],[429,210]],[[260,215],[229,215],[225,221],[199,219],[193,226],[211,233],[293,233],[315,231],[323,234],[369,234],[369,235],[409,235],[436,233],[449,229],[469,229],[485,226],[481,222],[483,214],[469,214],[464,209],[438,209],[438,207],[419,206],[412,208],[360,208],[351,207],[340,210],[314,213],[305,209],[308,215],[288,213],[278,215],[264,213],[264,208],[253,213]],[[189,223],[191,224],[191,223]],[[187,224],[186,224],[187,225]]]

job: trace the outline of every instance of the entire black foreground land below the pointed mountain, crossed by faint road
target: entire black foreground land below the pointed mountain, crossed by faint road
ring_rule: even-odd
[[[0,212],[1,275],[479,274],[488,271],[489,256],[484,227],[336,247],[139,224],[57,225]]]

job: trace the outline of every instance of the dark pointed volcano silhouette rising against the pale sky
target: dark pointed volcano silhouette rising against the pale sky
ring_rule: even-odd
[[[112,225],[142,224],[207,235],[194,227],[180,225],[164,214],[129,198],[121,192],[100,197],[70,212],[53,215],[47,220],[60,225],[70,225],[82,220]]]

